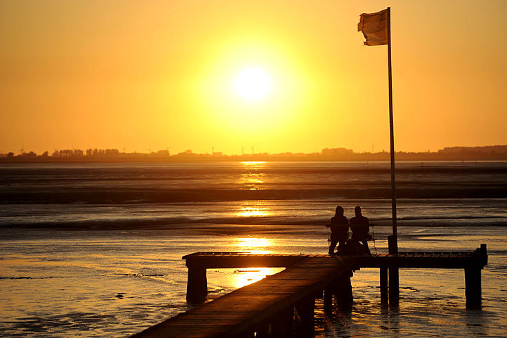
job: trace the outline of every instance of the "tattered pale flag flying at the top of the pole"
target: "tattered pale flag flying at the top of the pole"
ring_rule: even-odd
[[[366,46],[387,45],[387,10],[363,13],[357,23],[357,31],[363,32]]]

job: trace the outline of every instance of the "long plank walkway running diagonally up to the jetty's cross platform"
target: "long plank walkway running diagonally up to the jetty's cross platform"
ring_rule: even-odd
[[[233,337],[325,288],[350,271],[353,259],[313,257],[244,286],[134,337]]]

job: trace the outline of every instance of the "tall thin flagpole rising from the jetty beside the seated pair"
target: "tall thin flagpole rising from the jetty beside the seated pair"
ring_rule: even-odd
[[[395,179],[395,132],[392,123],[392,69],[391,69],[391,8],[387,8],[387,60],[389,72],[389,132],[391,143],[391,198],[392,198],[392,242],[389,252],[398,252],[398,234],[396,223],[396,179]]]

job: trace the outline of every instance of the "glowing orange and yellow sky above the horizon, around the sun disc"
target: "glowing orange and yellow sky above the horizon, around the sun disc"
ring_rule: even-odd
[[[507,144],[507,1],[0,2],[0,151],[238,154]],[[248,101],[245,68],[272,88]]]

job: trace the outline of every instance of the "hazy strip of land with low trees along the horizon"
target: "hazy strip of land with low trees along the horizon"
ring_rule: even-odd
[[[446,147],[437,152],[396,152],[396,157],[401,161],[419,160],[480,160],[480,159],[507,159],[507,146],[482,146],[482,147]],[[14,152],[0,153],[1,161],[220,161],[220,160],[338,160],[338,161],[387,161],[389,152],[354,152],[346,148],[324,148],[321,152],[293,153],[281,152],[276,154],[255,153],[243,155],[223,155],[222,152],[212,154],[199,154],[186,150],[176,155],[170,155],[169,150],[158,150],[157,152],[120,152],[118,149],[65,149],[54,150],[51,154],[48,151],[41,155],[37,153],[21,152],[15,155]]]

